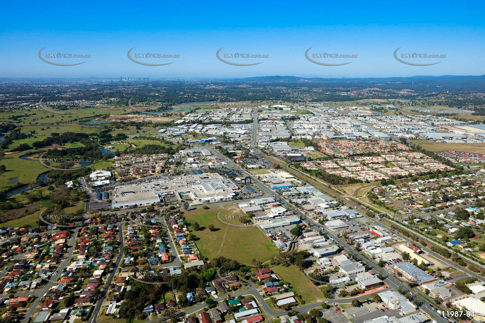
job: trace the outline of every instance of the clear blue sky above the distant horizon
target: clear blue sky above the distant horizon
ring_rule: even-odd
[[[82,1],[2,3],[0,77],[152,77],[242,78],[265,75],[302,77],[392,77],[482,75],[485,4],[483,1]],[[86,59],[49,59],[43,54],[90,54]],[[139,59],[134,53],[179,54],[180,58]],[[266,54],[263,59],[219,61],[215,53]],[[315,60],[351,64],[321,66],[304,54],[356,54],[353,59]],[[445,54],[440,59],[393,57],[401,52]]]

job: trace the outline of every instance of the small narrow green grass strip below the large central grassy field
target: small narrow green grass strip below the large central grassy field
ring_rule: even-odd
[[[296,294],[301,295],[307,304],[320,302],[324,299],[322,291],[313,285],[308,277],[295,266],[276,266],[273,267],[273,271],[283,278],[285,282],[290,283],[291,289]]]

